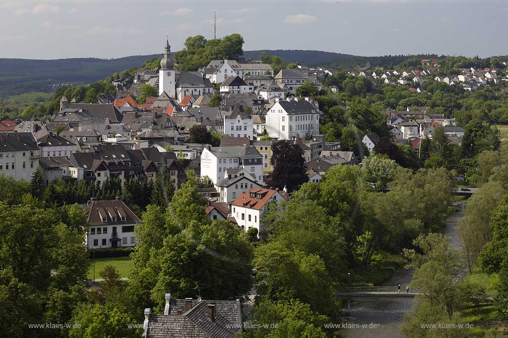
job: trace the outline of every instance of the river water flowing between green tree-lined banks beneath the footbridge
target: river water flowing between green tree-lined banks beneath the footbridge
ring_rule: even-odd
[[[444,234],[452,238],[452,244],[459,248],[456,234],[457,223],[464,216],[462,210],[451,213],[446,219]],[[411,282],[413,271],[399,269],[383,285],[400,284],[401,292]],[[345,303],[345,302],[344,302]],[[346,338],[403,338],[400,326],[407,314],[412,312],[415,299],[412,297],[352,297],[349,317],[343,317],[342,323],[351,328],[340,330]],[[347,313],[347,309],[343,309]],[[355,325],[355,326],[351,326]]]

